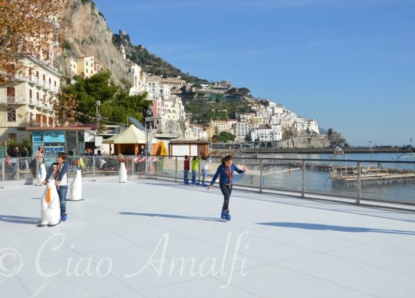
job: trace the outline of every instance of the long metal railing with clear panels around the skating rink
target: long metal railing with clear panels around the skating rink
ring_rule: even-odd
[[[37,183],[39,161],[33,157],[11,160],[15,172],[7,170],[1,159],[0,181]],[[33,160],[35,168],[30,168]],[[48,158],[49,163],[54,160],[55,156]],[[220,157],[211,160],[206,183],[221,164]],[[70,181],[77,170],[82,170],[83,177],[118,176],[120,163],[124,163],[129,177],[183,183],[183,157],[178,156],[70,156],[67,162]],[[415,161],[234,157],[234,163],[248,169],[243,175],[235,173],[232,179],[234,188],[241,190],[415,211]],[[46,170],[48,166],[46,163]],[[195,186],[201,180],[199,164]]]

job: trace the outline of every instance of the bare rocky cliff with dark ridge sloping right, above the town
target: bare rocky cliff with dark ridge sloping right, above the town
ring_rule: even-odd
[[[69,64],[65,59],[94,56],[95,62],[100,63],[103,69],[111,70],[111,79],[121,85],[126,67],[118,46],[123,40],[127,57],[142,66],[145,72],[163,74],[166,77],[181,76],[190,83],[208,83],[205,79],[182,72],[164,59],[151,54],[144,46],[133,46],[128,34],[122,38],[119,34],[113,34],[104,15],[91,0],[73,0],[62,17],[64,42],[60,45],[63,52],[57,58],[57,67],[64,77],[71,77]]]

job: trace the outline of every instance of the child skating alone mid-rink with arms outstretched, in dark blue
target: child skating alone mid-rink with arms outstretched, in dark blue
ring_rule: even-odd
[[[230,213],[229,213],[229,200],[230,194],[232,193],[232,177],[234,171],[242,174],[246,171],[246,166],[243,166],[242,170],[238,168],[234,163],[232,163],[233,159],[232,156],[227,155],[223,157],[222,164],[217,168],[216,173],[214,174],[212,181],[210,181],[210,186],[208,186],[208,190],[214,185],[217,177],[219,177],[219,187],[221,188],[221,192],[223,194],[223,206],[221,212],[221,218],[230,221]]]

